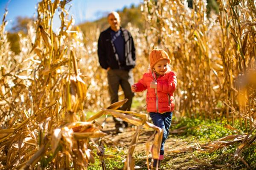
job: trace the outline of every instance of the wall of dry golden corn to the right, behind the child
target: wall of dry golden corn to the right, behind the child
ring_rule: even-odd
[[[255,82],[247,74],[256,71],[255,3],[218,3],[219,14],[207,16],[206,0],[193,1],[193,8],[186,0],[145,0],[148,47],[159,46],[170,54],[178,75],[176,113],[203,119],[224,115],[233,123],[239,118],[252,129]],[[241,83],[242,77],[247,82]]]

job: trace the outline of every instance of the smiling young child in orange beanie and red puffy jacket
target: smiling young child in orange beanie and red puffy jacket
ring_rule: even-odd
[[[150,69],[143,74],[143,78],[131,86],[133,92],[147,91],[147,111],[154,125],[163,129],[163,139],[160,149],[160,160],[163,160],[164,143],[169,135],[172,122],[172,111],[174,109],[173,93],[177,86],[176,75],[171,71],[169,64],[171,60],[162,49],[156,48],[149,54]],[[157,166],[154,159],[153,166]]]

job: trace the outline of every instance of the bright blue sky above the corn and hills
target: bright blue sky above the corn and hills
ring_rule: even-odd
[[[8,25],[6,30],[12,28],[15,24],[15,18],[21,17],[33,17],[36,13],[37,3],[41,0],[0,0],[0,20],[3,19],[6,5],[8,14],[6,20]],[[52,0],[54,1],[54,0]],[[109,11],[121,10],[124,6],[130,7],[131,4],[138,5],[143,0],[72,0],[67,6],[72,4],[70,8],[70,14],[75,18],[75,24],[82,23],[84,21],[93,21],[102,17],[103,14]],[[58,28],[60,22],[54,19],[54,27]]]

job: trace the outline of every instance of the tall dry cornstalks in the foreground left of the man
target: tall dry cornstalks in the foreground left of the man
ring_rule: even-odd
[[[5,20],[1,25],[0,63],[0,168],[33,167],[86,169],[94,162],[89,137],[104,136],[85,121],[87,85],[79,72],[76,46],[82,44],[72,31],[65,5],[70,0],[43,0],[38,18],[21,38],[21,53],[9,49]],[[59,11],[61,28],[52,31]],[[86,153],[86,154],[84,154]]]

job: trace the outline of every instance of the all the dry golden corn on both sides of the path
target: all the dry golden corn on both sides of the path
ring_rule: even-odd
[[[145,147],[148,155],[153,140],[152,155],[158,157],[162,130],[147,122],[148,115],[116,110],[125,100],[109,106],[106,73],[96,54],[99,29],[90,37],[92,42],[84,44],[65,8],[70,1],[38,3],[37,20],[28,25],[27,36],[20,36],[18,55],[10,50],[3,16],[0,169],[71,165],[87,169],[94,162],[89,148],[101,152],[93,138],[106,135],[96,119],[106,114],[137,126],[124,169],[134,169],[133,152],[143,127],[156,131]],[[128,24],[138,56],[135,80],[148,69],[148,52],[163,48],[177,72],[175,116],[224,116],[232,125],[238,119],[240,126],[255,130],[256,4],[250,0],[218,0],[218,4],[219,13],[207,15],[206,0],[193,1],[193,8],[186,0],[145,0],[141,5],[145,30]],[[52,31],[56,12],[61,20],[58,32]],[[86,119],[87,111],[98,113]]]

